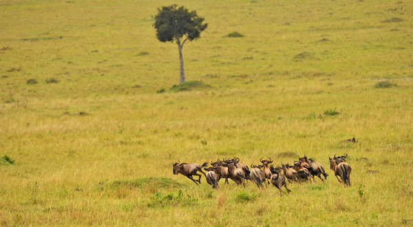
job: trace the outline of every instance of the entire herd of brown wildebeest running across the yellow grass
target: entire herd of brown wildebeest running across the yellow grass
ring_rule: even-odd
[[[337,180],[350,186],[351,167],[346,162],[346,158],[347,154],[339,157],[334,155],[334,158],[328,157],[330,169],[334,171]],[[319,162],[315,162],[313,158],[307,158],[306,155],[298,157],[298,161],[293,162],[293,165],[282,163],[281,166],[275,167],[272,164],[273,160],[269,157],[268,159],[261,158],[260,162],[260,165],[251,164],[251,170],[244,163],[240,162],[240,158],[237,157],[218,159],[216,162],[211,162],[210,167],[207,167],[208,162],[200,165],[196,163],[181,163],[178,160],[178,162],[172,164],[173,174],[180,173],[191,179],[195,184],[201,184],[202,175],[198,173],[200,172],[207,178],[208,184],[211,184],[213,188],[219,188],[218,182],[221,178],[225,179],[224,184],[229,184],[228,179],[231,179],[244,187],[245,180],[251,180],[251,182],[257,184],[258,188],[262,188],[263,184],[267,186],[271,182],[273,186],[279,189],[280,195],[282,195],[282,186],[286,188],[287,193],[290,193],[286,180],[288,182],[305,182],[315,180],[315,176],[317,176],[324,181],[328,176]],[[204,173],[202,169],[207,171],[207,173]],[[198,176],[198,180],[193,179],[193,176]]]

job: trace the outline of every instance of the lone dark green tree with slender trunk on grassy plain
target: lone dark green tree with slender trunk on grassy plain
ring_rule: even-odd
[[[179,50],[180,60],[180,83],[185,82],[184,59],[182,57],[182,47],[187,40],[198,39],[203,30],[208,26],[202,23],[204,18],[198,17],[196,11],[187,10],[178,5],[162,6],[158,8],[153,26],[156,29],[156,37],[161,42],[176,41]]]

